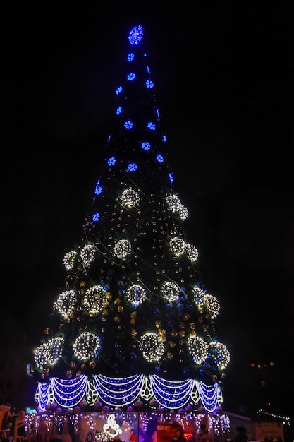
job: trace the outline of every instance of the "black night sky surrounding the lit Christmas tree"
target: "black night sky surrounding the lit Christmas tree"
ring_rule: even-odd
[[[293,2],[100,3],[2,6],[2,339],[37,345],[63,289],[140,23],[227,383],[248,362],[291,373]]]

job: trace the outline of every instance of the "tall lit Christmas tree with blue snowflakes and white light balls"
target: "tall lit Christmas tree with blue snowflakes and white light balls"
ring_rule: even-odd
[[[230,356],[214,330],[219,301],[185,233],[144,37],[141,25],[128,34],[92,213],[63,257],[64,289],[35,350],[41,410],[222,403]]]

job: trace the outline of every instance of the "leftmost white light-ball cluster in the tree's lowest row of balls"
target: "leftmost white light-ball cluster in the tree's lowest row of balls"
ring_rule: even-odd
[[[51,338],[42,345],[39,345],[34,352],[34,359],[36,365],[40,369],[44,369],[46,366],[53,366],[61,357],[63,351],[64,339],[59,336]]]

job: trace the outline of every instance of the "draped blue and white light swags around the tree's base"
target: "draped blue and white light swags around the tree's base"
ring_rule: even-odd
[[[142,393],[146,395],[145,388],[150,388],[148,398],[155,398],[157,402],[168,410],[175,410],[183,407],[188,400],[198,404],[199,401],[205,410],[212,412],[218,405],[221,405],[221,389],[217,383],[207,386],[194,379],[185,381],[167,381],[157,375],[147,376],[142,374],[130,376],[129,378],[109,378],[96,375],[90,381],[87,376],[71,380],[51,378],[50,383],[38,383],[35,393],[35,400],[42,410],[48,403],[56,402],[61,407],[68,409],[78,405],[84,398],[87,398],[89,405],[99,397],[103,402],[114,407],[123,407],[134,403]],[[89,390],[97,390],[97,394]],[[144,390],[144,391],[142,391]]]

